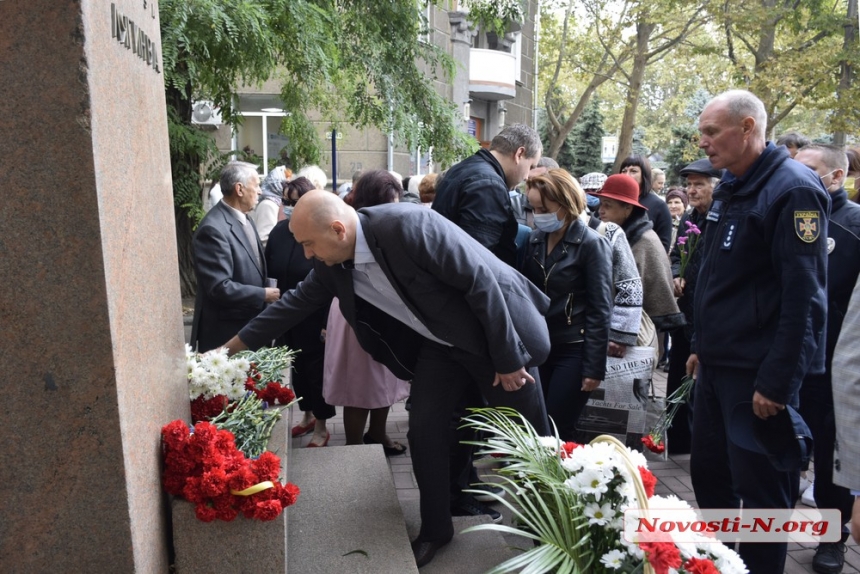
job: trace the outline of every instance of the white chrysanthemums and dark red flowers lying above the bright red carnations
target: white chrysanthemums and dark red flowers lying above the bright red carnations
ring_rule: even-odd
[[[295,351],[286,347],[242,351],[228,357],[224,347],[195,353],[185,345],[191,420],[196,423],[217,416],[246,391],[253,391],[269,404],[292,403],[295,394],[279,381],[294,356]]]

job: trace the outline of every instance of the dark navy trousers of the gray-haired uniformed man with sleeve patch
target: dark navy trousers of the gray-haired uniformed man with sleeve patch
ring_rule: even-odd
[[[768,458],[726,436],[732,409],[752,400],[756,372],[699,365],[690,478],[700,508],[794,508],[800,470],[779,472]],[[750,406],[752,409],[752,406]],[[782,574],[787,543],[740,544],[750,574]]]

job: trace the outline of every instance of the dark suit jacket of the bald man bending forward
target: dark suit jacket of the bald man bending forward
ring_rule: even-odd
[[[407,204],[359,211],[374,258],[415,316],[434,336],[488,357],[499,373],[541,364],[550,342],[549,299],[510,266],[438,213]],[[362,348],[401,379],[413,378],[423,337],[356,297],[352,271],[316,262],[239,333],[257,348],[315,309],[340,300]]]

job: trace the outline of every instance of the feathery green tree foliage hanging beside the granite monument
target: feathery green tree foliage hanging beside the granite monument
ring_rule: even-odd
[[[455,63],[432,43],[415,0],[162,0],[162,55],[183,293],[193,290],[190,234],[201,214],[200,166],[214,143],[191,126],[213,100],[236,126],[237,90],[277,81],[295,164],[318,163],[311,118],[375,126],[443,163],[473,151],[454,105],[437,94]],[[207,141],[208,140],[208,141]],[[215,166],[216,168],[218,166]]]

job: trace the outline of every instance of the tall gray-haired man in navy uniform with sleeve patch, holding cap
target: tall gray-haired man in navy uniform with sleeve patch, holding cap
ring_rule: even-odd
[[[699,368],[690,474],[700,508],[794,506],[800,469],[738,446],[730,421],[796,407],[803,378],[824,368],[830,200],[815,173],[765,140],[766,125],[761,100],[743,90],[699,117],[699,147],[727,171],[707,215],[687,364]],[[781,574],[787,549],[739,552],[750,572]]]

